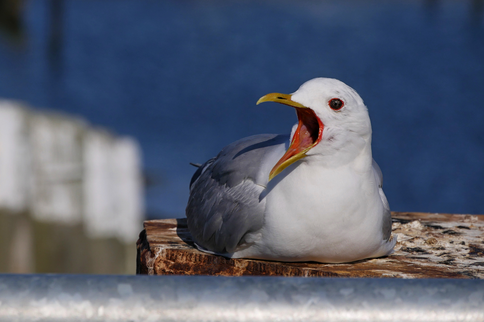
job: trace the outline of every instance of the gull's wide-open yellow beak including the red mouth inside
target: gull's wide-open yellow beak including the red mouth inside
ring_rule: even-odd
[[[305,157],[306,152],[318,144],[322,137],[324,125],[319,117],[310,108],[291,100],[291,96],[290,94],[271,93],[257,101],[257,104],[269,101],[292,106],[296,109],[299,120],[289,148],[269,173],[269,181],[290,164]]]

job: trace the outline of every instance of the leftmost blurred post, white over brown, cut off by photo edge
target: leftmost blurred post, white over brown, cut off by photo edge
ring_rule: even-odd
[[[0,100],[0,271],[33,271],[28,109]]]

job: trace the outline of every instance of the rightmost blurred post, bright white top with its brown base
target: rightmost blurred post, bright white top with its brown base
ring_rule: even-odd
[[[84,135],[84,226],[93,273],[136,271],[136,236],[144,213],[140,154],[129,138],[92,129]]]

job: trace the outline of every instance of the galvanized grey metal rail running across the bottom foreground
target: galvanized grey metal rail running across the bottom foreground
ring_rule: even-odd
[[[0,275],[0,321],[484,321],[484,280]]]

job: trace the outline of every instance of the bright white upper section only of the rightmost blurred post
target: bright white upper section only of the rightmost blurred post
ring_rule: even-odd
[[[135,140],[101,130],[84,138],[84,222],[92,238],[136,242],[142,230],[140,151]]]

